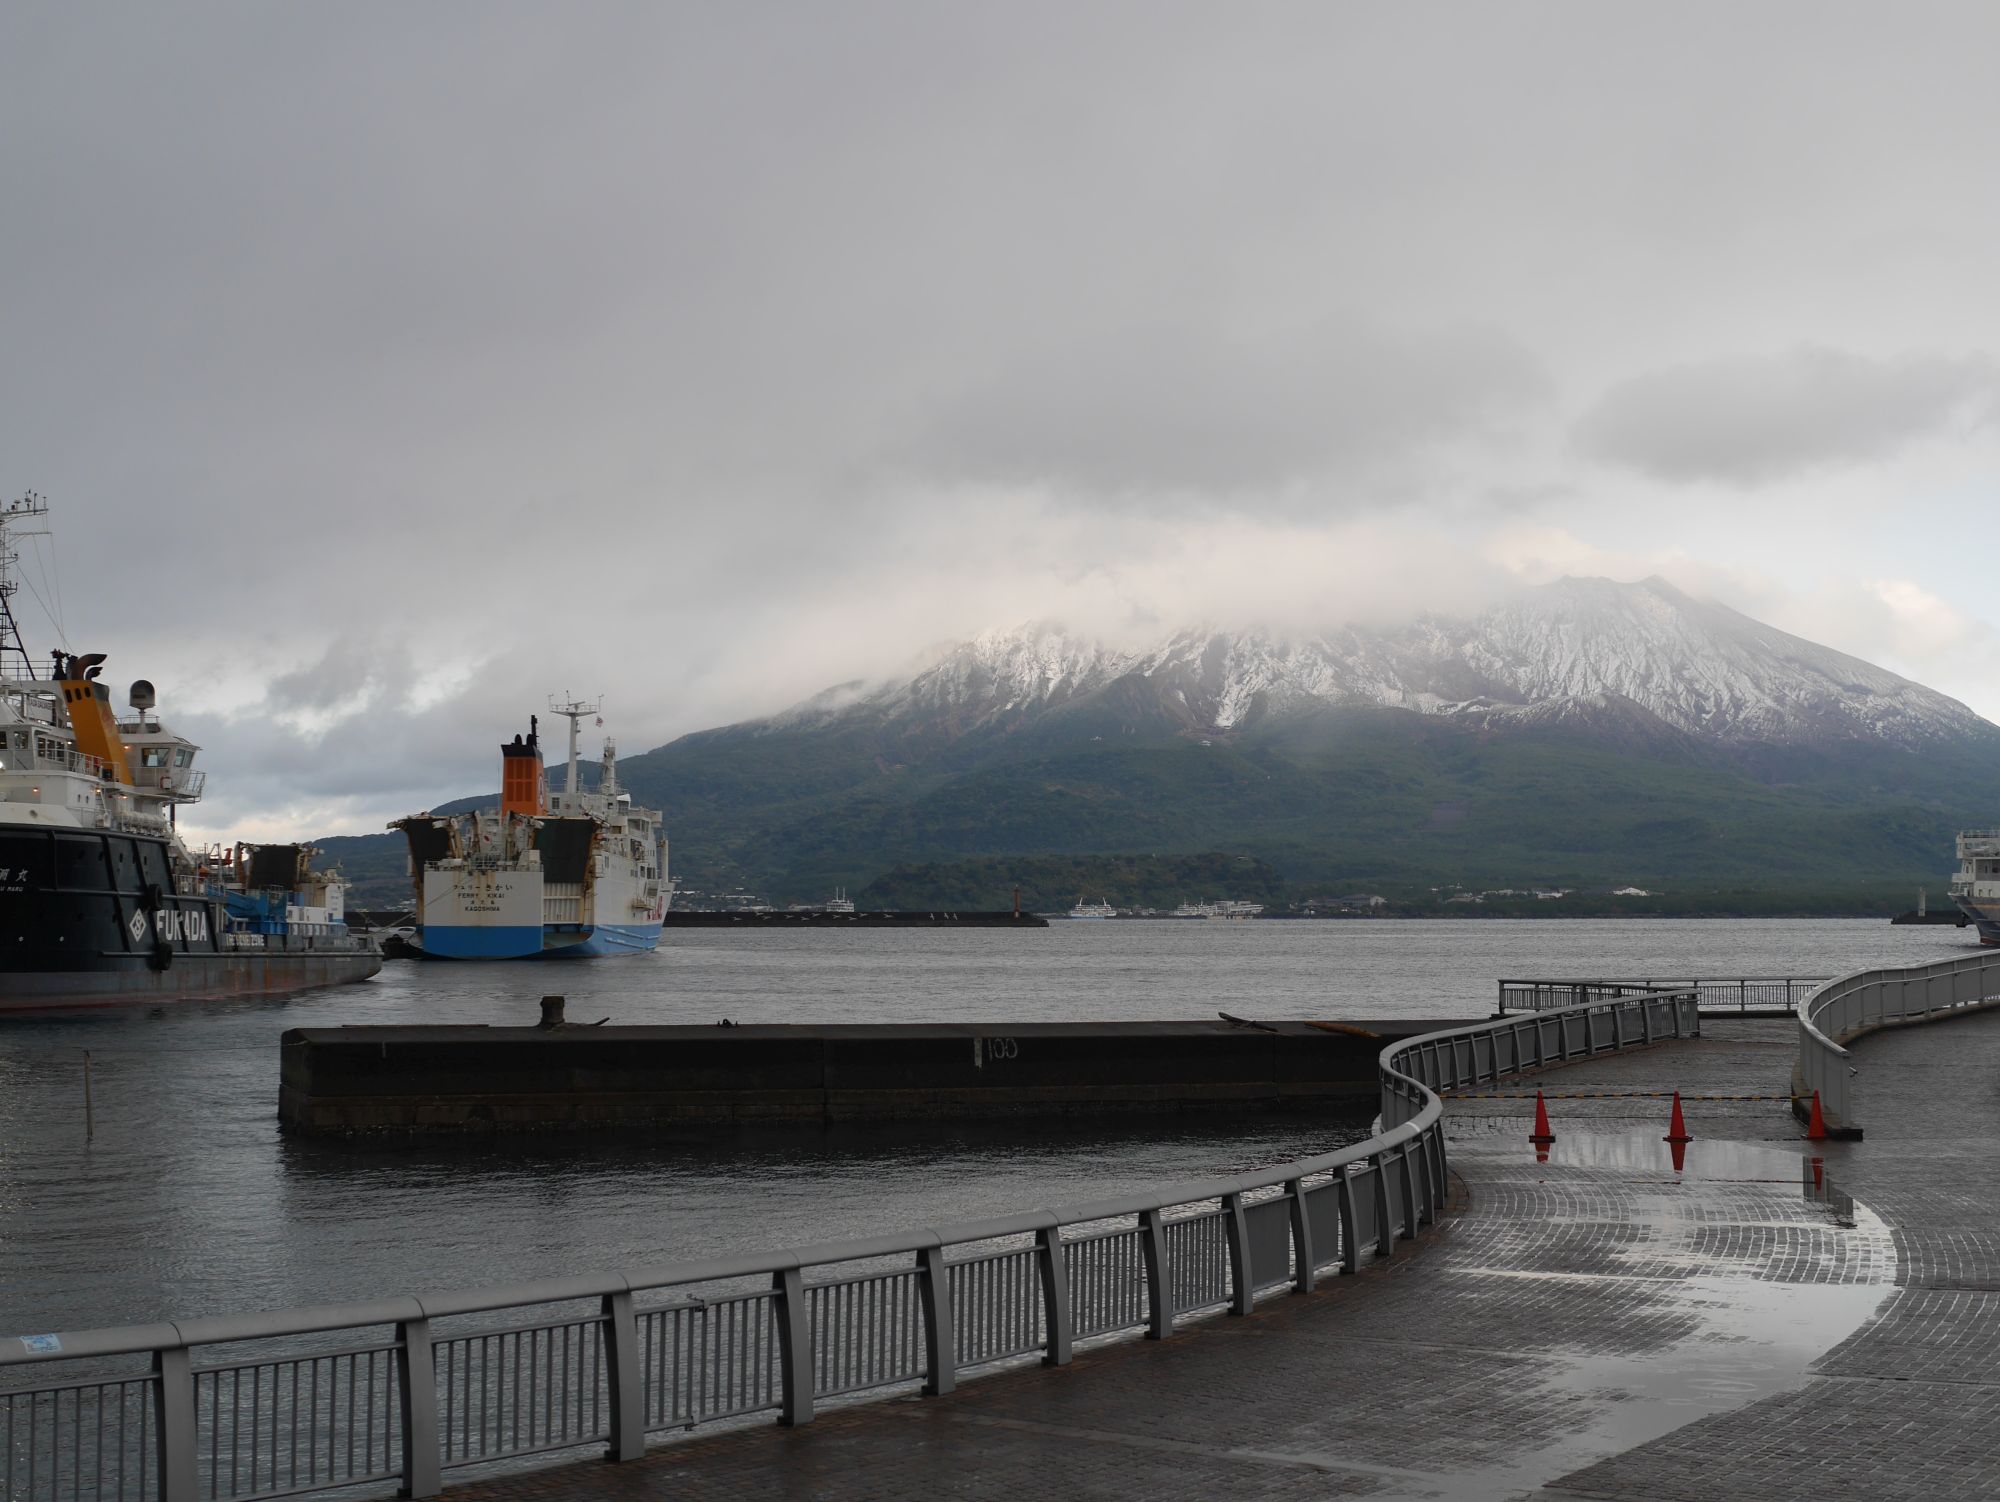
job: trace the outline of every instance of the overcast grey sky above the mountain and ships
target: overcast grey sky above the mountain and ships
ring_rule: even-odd
[[[0,12],[0,486],[380,828],[1060,618],[1684,588],[2000,716],[1990,4]]]

